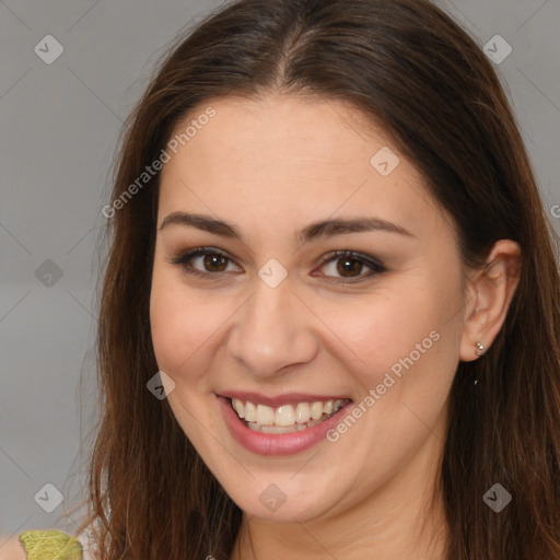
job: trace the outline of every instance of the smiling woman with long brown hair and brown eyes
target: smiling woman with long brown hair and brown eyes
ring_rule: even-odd
[[[560,559],[553,230],[440,9],[211,14],[103,212],[97,560]]]

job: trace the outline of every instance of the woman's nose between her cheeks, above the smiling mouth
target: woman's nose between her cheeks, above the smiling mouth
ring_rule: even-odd
[[[257,277],[255,291],[234,315],[228,354],[259,377],[311,361],[318,342],[313,332],[315,316],[292,291],[289,277],[271,288]]]

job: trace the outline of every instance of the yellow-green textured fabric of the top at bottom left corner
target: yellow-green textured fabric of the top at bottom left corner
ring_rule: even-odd
[[[27,560],[83,560],[77,537],[58,529],[25,530],[19,535]]]

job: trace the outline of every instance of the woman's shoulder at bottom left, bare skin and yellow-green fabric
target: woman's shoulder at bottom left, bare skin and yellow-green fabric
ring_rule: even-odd
[[[84,560],[77,537],[58,529],[34,529],[10,537],[0,548],[0,560]]]

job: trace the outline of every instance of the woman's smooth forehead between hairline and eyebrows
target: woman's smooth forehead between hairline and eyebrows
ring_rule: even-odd
[[[199,118],[209,107],[213,116]],[[159,222],[185,210],[247,228],[299,229],[310,218],[357,213],[418,235],[444,225],[422,177],[388,135],[341,102],[224,97],[191,110],[173,137],[182,133],[162,171]],[[394,167],[388,175],[380,172],[386,173],[384,161]]]

